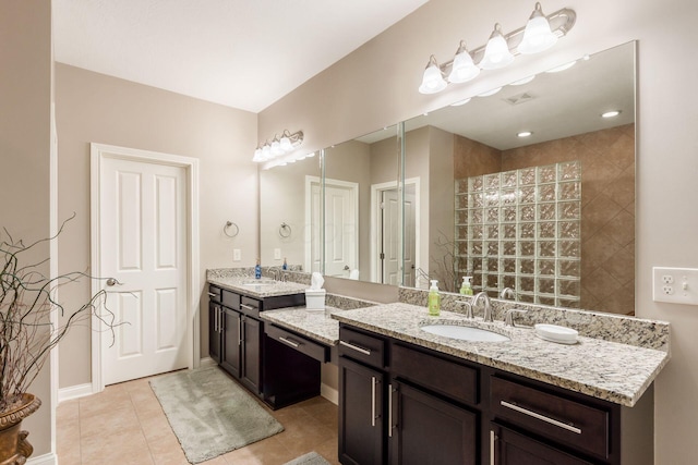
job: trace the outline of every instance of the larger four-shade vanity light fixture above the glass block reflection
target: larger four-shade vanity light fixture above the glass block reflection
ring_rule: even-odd
[[[431,56],[419,91],[436,94],[444,90],[449,83],[466,83],[476,78],[480,70],[504,68],[512,63],[517,54],[546,50],[555,45],[558,38],[564,37],[576,21],[577,14],[567,8],[545,16],[541,4],[537,2],[526,26],[504,35],[502,27],[496,23],[484,46],[468,51],[461,40],[454,59],[441,65],[436,57]],[[448,76],[448,79],[445,79],[445,76]]]

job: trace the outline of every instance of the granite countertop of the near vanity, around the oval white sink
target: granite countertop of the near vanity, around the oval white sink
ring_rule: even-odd
[[[340,322],[432,348],[444,354],[498,368],[527,378],[633,406],[669,362],[669,353],[654,348],[579,336],[573,345],[538,338],[532,329],[485,323],[462,314],[442,310],[430,317],[426,308],[404,303],[335,313]],[[508,335],[507,342],[469,342],[430,334],[420,326],[457,321]]]

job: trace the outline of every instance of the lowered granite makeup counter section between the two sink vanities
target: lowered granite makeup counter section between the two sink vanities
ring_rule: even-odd
[[[327,345],[339,343],[339,321],[332,316],[347,310],[325,306],[324,310],[309,310],[305,307],[278,308],[260,314],[260,318]]]

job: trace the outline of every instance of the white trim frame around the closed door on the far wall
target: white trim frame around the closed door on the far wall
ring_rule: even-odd
[[[119,147],[106,144],[89,144],[89,232],[91,232],[91,270],[93,273],[101,270],[100,255],[100,205],[99,193],[101,189],[101,161],[106,158],[120,159],[135,162],[147,162],[165,164],[169,167],[184,168],[184,179],[186,180],[186,218],[185,228],[188,234],[186,243],[186,346],[189,368],[195,368],[201,360],[201,322],[200,322],[200,254],[198,254],[198,159],[182,157],[178,155],[163,154],[157,151],[141,150],[135,148]],[[92,294],[101,290],[101,281],[92,280]],[[104,391],[105,382],[103,376],[103,353],[101,334],[103,331],[95,329],[101,327],[99,318],[92,317],[92,391],[97,393]]]

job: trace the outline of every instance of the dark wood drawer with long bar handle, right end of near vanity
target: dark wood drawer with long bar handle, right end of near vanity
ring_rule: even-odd
[[[494,416],[600,457],[609,456],[609,412],[517,382],[491,378]]]

